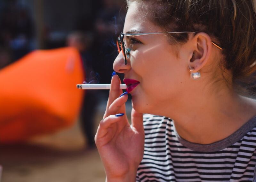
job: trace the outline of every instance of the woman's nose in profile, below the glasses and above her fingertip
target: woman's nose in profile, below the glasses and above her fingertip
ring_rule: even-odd
[[[130,62],[127,60],[127,64],[124,63],[124,55],[122,52],[120,52],[113,64],[114,71],[118,73],[125,73],[127,70],[131,69]]]

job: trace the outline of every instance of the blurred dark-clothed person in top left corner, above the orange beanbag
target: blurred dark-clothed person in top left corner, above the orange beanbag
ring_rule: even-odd
[[[34,35],[34,25],[29,16],[28,9],[19,7],[17,1],[6,2],[0,14],[0,40],[1,46],[12,50],[14,62],[31,49],[31,42]]]

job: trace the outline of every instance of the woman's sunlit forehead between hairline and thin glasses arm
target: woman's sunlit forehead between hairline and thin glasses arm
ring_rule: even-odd
[[[129,5],[129,9],[125,17],[124,33],[160,32],[161,28],[150,22],[148,18],[149,16],[149,13],[142,11],[140,4],[137,2],[132,2]]]

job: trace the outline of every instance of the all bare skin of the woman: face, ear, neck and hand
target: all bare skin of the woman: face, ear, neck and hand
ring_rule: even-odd
[[[130,4],[124,33],[134,30],[163,32],[138,7],[136,2]],[[144,148],[141,113],[172,118],[181,137],[201,144],[228,137],[256,115],[255,101],[237,95],[232,85],[226,84],[225,79],[232,80],[232,75],[227,70],[221,74],[220,50],[212,45],[206,33],[192,33],[188,42],[182,45],[170,45],[164,34],[139,36],[136,40],[131,44],[126,39],[131,49],[128,64],[124,64],[120,53],[113,65],[116,72],[124,73],[124,78],[140,81],[131,92],[133,127],[128,126],[126,115],[111,116],[125,113],[127,99],[127,96],[118,98],[122,92],[117,88],[118,76],[114,76],[111,85],[116,90],[110,90],[107,110],[101,121],[111,124],[100,125],[95,136],[107,181],[135,180]],[[190,67],[194,68],[193,72],[200,71],[199,80],[190,78]],[[122,139],[118,139],[119,135]]]

